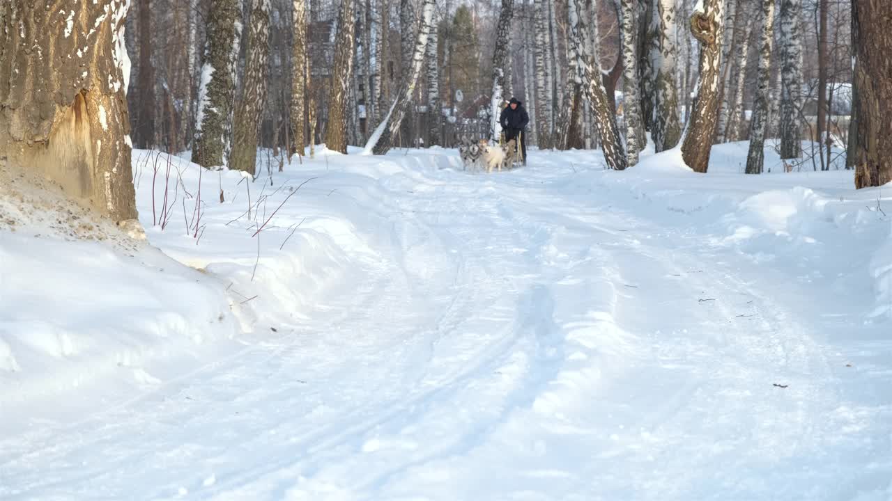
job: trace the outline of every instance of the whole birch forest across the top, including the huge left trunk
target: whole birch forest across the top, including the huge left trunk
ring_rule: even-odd
[[[749,139],[747,173],[772,144],[790,168],[892,180],[888,0],[51,4],[0,4],[0,156],[114,218],[135,215],[131,142],[254,173],[258,148],[497,139],[511,96],[531,144],[609,168],[648,135],[698,172]]]

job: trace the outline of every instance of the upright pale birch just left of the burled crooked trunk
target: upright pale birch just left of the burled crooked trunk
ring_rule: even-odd
[[[658,0],[657,15],[660,23],[659,66],[655,96],[656,112],[651,136],[656,152],[674,148],[681,139],[681,121],[678,116],[678,92],[675,84],[675,2]]]

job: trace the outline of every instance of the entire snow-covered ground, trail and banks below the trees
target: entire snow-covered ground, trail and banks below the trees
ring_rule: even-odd
[[[135,152],[160,251],[0,196],[0,499],[888,501],[892,187],[746,152],[322,152],[199,211]]]

